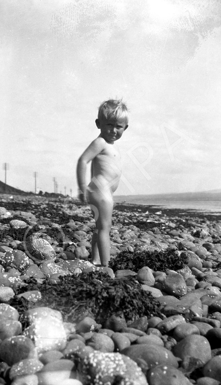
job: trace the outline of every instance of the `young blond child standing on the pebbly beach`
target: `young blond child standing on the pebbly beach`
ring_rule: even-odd
[[[77,163],[79,199],[89,203],[96,222],[92,236],[92,262],[107,266],[110,258],[109,232],[112,225],[113,193],[121,177],[121,157],[116,140],[128,127],[128,111],[121,100],[107,100],[95,121],[100,130]],[[87,164],[92,161],[92,180],[86,186]]]

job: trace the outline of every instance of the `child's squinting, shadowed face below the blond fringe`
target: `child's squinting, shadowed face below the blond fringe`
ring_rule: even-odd
[[[125,119],[96,119],[95,121],[97,128],[100,129],[100,134],[102,138],[107,143],[114,143],[116,140],[120,139],[123,132],[127,129],[128,125],[125,122]]]

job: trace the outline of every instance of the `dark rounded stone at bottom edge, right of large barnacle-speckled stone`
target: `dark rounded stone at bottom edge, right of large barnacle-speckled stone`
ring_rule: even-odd
[[[180,370],[164,364],[150,369],[147,380],[149,385],[191,385],[191,382]]]

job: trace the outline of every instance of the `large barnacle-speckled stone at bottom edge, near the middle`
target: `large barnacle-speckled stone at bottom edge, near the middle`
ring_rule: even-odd
[[[82,383],[109,385],[110,383],[128,385],[148,385],[141,368],[121,353],[93,351],[80,363],[79,379]]]

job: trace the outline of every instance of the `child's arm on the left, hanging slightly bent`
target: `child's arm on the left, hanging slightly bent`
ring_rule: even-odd
[[[94,159],[104,149],[105,140],[101,137],[93,140],[77,162],[77,184],[79,187],[79,199],[86,203],[86,170],[87,164]]]

